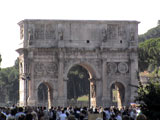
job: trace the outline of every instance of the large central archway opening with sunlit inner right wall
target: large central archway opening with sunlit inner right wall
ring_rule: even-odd
[[[67,74],[67,102],[73,106],[96,106],[96,81],[91,67],[73,65]]]

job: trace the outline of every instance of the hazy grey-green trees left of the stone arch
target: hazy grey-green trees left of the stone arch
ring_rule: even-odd
[[[19,90],[19,72],[18,72],[18,59],[15,61],[13,67],[2,68],[0,71],[0,102],[17,103],[18,90]]]

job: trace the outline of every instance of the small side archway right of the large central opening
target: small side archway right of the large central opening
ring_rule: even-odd
[[[125,103],[125,86],[121,82],[114,82],[110,87],[111,103],[121,108]]]

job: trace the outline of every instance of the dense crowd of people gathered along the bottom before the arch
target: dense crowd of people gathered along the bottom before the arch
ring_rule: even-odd
[[[0,120],[88,120],[90,115],[101,114],[96,120],[147,120],[137,107],[16,107],[0,108]]]

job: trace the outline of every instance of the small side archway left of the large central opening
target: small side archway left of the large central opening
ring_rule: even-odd
[[[48,82],[41,82],[37,88],[38,106],[50,108],[53,100],[53,89]]]

